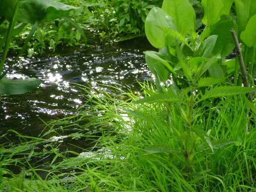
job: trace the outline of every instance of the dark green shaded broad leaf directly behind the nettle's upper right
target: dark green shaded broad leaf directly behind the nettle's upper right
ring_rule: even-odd
[[[214,55],[221,54],[221,58],[226,57],[233,51],[235,44],[230,30],[235,28],[232,17],[223,16],[221,20],[215,24],[210,35],[218,35],[215,46],[212,50]]]

